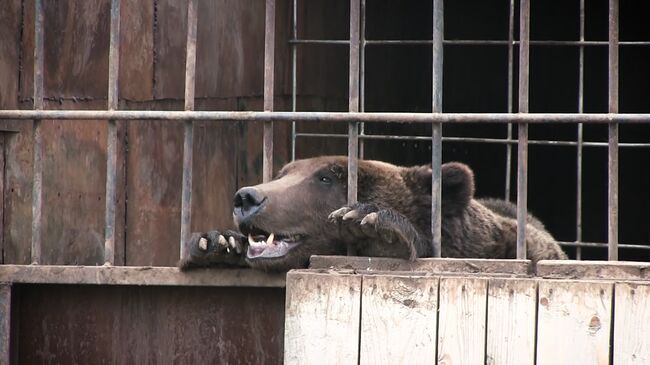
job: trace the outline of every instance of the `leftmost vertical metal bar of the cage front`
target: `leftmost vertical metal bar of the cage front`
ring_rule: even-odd
[[[43,2],[34,1],[34,110],[43,109]],[[32,263],[41,260],[43,208],[43,135],[34,120],[34,181],[32,187]]]

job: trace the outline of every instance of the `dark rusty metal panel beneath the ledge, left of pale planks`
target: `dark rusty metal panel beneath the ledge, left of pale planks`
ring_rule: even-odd
[[[282,362],[283,289],[34,285],[17,293],[20,364]]]

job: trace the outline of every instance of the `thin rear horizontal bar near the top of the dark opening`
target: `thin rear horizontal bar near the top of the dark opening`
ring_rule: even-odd
[[[510,41],[506,39],[445,39],[444,45],[450,46],[507,46]],[[350,41],[341,39],[290,39],[289,44],[295,45],[348,45]],[[364,41],[368,46],[426,46],[431,45],[430,39],[368,39]],[[513,45],[518,45],[519,41],[512,41]],[[608,46],[607,41],[558,41],[558,40],[536,40],[530,41],[531,46],[564,46],[564,47],[592,47]],[[627,41],[619,42],[620,46],[650,46],[648,41]]]

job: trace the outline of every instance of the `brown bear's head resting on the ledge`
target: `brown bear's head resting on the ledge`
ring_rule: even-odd
[[[358,200],[394,209],[430,237],[431,167],[359,161]],[[443,216],[460,214],[472,199],[471,170],[442,167]],[[287,164],[270,182],[240,189],[233,219],[249,237],[246,259],[259,269],[306,267],[312,255],[345,254],[345,237],[329,214],[347,203],[347,157],[323,156]]]

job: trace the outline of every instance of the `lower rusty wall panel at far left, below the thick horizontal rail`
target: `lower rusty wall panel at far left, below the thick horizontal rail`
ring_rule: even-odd
[[[64,102],[67,104],[69,102]],[[103,104],[103,103],[102,103]],[[99,107],[99,106],[98,106]],[[103,263],[106,122],[43,121],[43,244],[41,263]],[[119,133],[119,132],[118,132]],[[122,137],[123,138],[123,135]],[[31,236],[31,133],[11,137],[5,190],[5,262],[28,263]],[[121,150],[121,148],[120,148]],[[14,154],[14,151],[16,154]],[[123,151],[120,155],[123,155]],[[24,159],[20,158],[25,156]],[[118,168],[118,181],[123,179]],[[120,178],[122,177],[122,178]],[[118,188],[118,234],[123,242],[123,189]],[[116,245],[117,262],[123,244]]]

